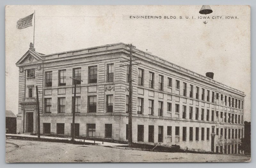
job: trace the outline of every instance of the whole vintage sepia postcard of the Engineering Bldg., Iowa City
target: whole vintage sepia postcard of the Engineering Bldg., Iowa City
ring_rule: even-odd
[[[245,5],[7,5],[6,162],[250,162]]]

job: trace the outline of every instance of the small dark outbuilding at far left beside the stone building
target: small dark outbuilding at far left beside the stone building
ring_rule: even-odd
[[[17,116],[10,110],[5,110],[5,133],[16,134]]]

